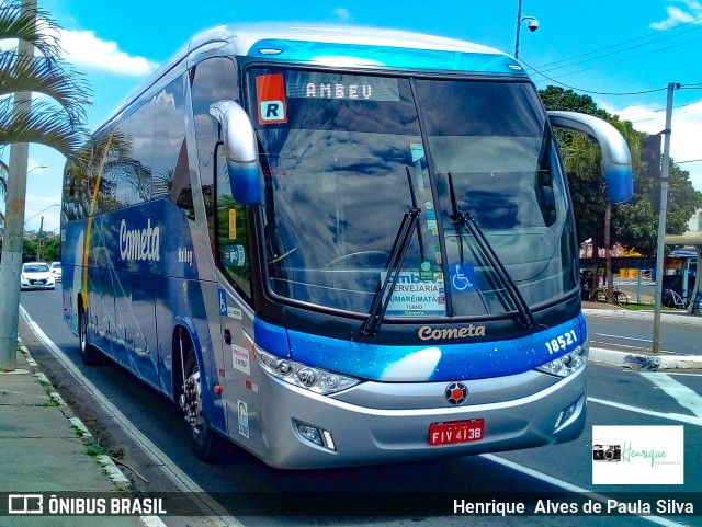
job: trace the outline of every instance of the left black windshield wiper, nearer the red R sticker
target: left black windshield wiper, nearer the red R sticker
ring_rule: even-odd
[[[390,255],[387,259],[386,275],[383,284],[381,284],[373,301],[371,302],[371,309],[369,310],[369,318],[365,319],[361,325],[360,333],[363,336],[375,336],[381,329],[387,306],[390,302],[395,285],[399,278],[407,250],[409,249],[409,240],[411,239],[412,230],[417,229],[417,238],[419,241],[420,259],[424,260],[424,248],[421,239],[421,228],[419,227],[419,214],[421,209],[417,207],[417,196],[415,194],[415,186],[412,184],[409,167],[405,167],[407,170],[407,181],[409,183],[409,194],[412,202],[412,207],[403,215],[403,221],[399,225],[397,234],[395,236],[395,242],[390,249]],[[388,293],[389,291],[389,293]]]

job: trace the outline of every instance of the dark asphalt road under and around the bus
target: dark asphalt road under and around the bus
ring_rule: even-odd
[[[22,307],[36,326],[41,328],[56,348],[75,365],[76,375],[70,375],[60,365],[54,353],[47,350],[25,324],[22,337],[54,386],[73,411],[83,420],[103,447],[123,460],[133,470],[125,469],[134,486],[141,491],[182,490],[182,481],[192,484],[190,489],[202,489],[216,497],[225,507],[236,508],[241,495],[259,496],[272,492],[271,500],[286,496],[299,501],[320,500],[317,492],[324,492],[331,503],[342,503],[351,493],[375,493],[375,500],[446,500],[471,495],[475,492],[499,501],[505,492],[597,492],[610,495],[625,492],[626,499],[636,500],[639,493],[669,497],[669,492],[702,491],[702,377],[697,375],[666,375],[656,377],[618,368],[590,365],[588,422],[581,437],[573,443],[552,447],[522,450],[499,455],[464,457],[434,462],[389,465],[336,470],[282,471],[267,467],[250,455],[229,444],[220,446],[215,463],[204,463],[190,452],[185,438],[185,427],[176,406],[138,382],[120,367],[107,364],[84,367],[78,356],[78,341],[68,331],[61,319],[60,288],[56,291],[27,291],[22,294]],[[630,321],[614,321],[615,329],[624,333]],[[633,325],[631,325],[633,326]],[[593,324],[593,331],[614,331]],[[632,330],[638,331],[638,330]],[[667,331],[667,330],[666,330]],[[689,330],[688,330],[689,331]],[[632,333],[638,334],[638,333]],[[636,336],[634,336],[636,337]],[[694,343],[691,343],[694,344]],[[693,348],[691,348],[693,350]],[[82,378],[82,379],[81,379]],[[683,388],[681,398],[668,389],[673,380]],[[125,432],[120,419],[101,410],[93,396],[86,389],[87,381],[94,385],[101,398],[107,400],[120,415],[148,438],[148,445],[139,443],[139,435]],[[682,426],[684,431],[684,484],[592,484],[592,426],[593,425],[652,425]],[[148,452],[146,450],[149,450]],[[138,472],[138,476],[135,473]],[[181,474],[181,483],[172,474]],[[148,480],[146,483],[144,480]],[[388,494],[389,492],[397,494]],[[225,494],[222,494],[225,493]],[[252,494],[248,494],[252,493]],[[294,494],[293,494],[294,493]],[[239,497],[237,497],[239,496]],[[390,496],[390,497],[388,497]],[[420,497],[421,499],[421,497]],[[237,501],[239,500],[239,501]],[[290,503],[290,502],[285,502]],[[322,503],[319,503],[322,506]],[[702,508],[702,505],[700,505]],[[702,511],[698,511],[698,514]],[[655,514],[655,513],[654,513]],[[171,526],[210,525],[216,518],[161,518]],[[226,520],[224,525],[238,525]],[[556,522],[544,516],[412,516],[406,517],[355,517],[355,516],[270,516],[264,509],[256,516],[238,517],[246,526],[269,525],[397,525],[422,524],[428,526],[536,526]],[[559,516],[561,526],[616,525],[618,527],[657,525],[702,525],[702,516],[618,516],[582,517]],[[213,524],[214,525],[214,524]],[[223,525],[222,523],[216,525]]]

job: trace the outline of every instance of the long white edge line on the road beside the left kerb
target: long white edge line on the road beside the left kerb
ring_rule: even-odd
[[[68,358],[68,356],[56,345],[52,340],[42,331],[34,320],[30,317],[30,313],[20,305],[20,313],[26,320],[27,324],[34,332],[34,334],[44,342],[63,366],[70,373],[73,378],[82,385],[82,387],[95,399],[102,406],[102,409],[110,415],[110,417],[134,440],[137,445],[141,446],[143,451],[163,470],[163,473],[183,492],[190,493],[192,500],[199,500],[200,506],[206,515],[214,516],[212,520],[218,527],[244,527],[236,518],[231,517],[222,505],[207,495],[207,493],[195,483],[185,472],[183,472],[178,466],[158,448],[151,440],[146,437],[138,428],[136,428],[129,420],[120,410],[112,404],[106,397],[93,385],[80,369]],[[149,517],[150,525],[156,525],[154,522],[157,517]],[[210,519],[210,518],[208,518]]]

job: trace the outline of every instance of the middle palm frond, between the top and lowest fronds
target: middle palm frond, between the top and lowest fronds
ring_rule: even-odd
[[[0,96],[15,92],[48,95],[66,110],[71,123],[86,122],[87,83],[58,60],[0,51]]]

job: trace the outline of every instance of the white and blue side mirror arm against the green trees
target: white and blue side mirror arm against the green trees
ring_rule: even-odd
[[[600,145],[602,172],[609,201],[613,204],[629,202],[634,196],[632,154],[626,141],[607,121],[577,112],[548,112],[556,128],[581,131]]]

